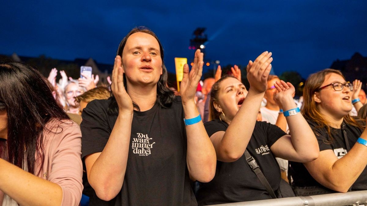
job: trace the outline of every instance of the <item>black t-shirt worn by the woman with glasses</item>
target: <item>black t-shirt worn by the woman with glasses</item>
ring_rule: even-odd
[[[330,140],[330,138],[328,137],[326,127],[318,128],[316,123],[309,119],[307,120],[307,122],[310,125],[310,128],[315,133],[315,136],[319,143],[320,151],[333,150],[335,156],[337,156],[339,159],[342,158],[348,152],[342,129],[330,128],[331,135],[333,136],[333,139]],[[354,144],[356,144],[357,139],[361,136],[363,130],[355,126],[348,125],[345,122],[344,124],[347,138],[349,141],[349,146],[350,148],[352,148]],[[292,185],[294,187],[318,186],[320,188],[325,188],[323,185],[321,185],[315,179],[313,179],[313,177],[307,171],[303,163],[290,161],[290,166],[291,166],[290,174],[293,178]],[[366,168],[363,170],[363,172],[357,178],[355,183],[352,185],[352,190],[367,190]]]

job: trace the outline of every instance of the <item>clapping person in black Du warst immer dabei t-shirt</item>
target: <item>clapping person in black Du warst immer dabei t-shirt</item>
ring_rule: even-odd
[[[216,164],[194,100],[203,63],[198,49],[175,96],[155,33],[138,27],[123,38],[112,98],[88,103],[82,114],[90,205],[197,205],[190,177],[208,182]]]

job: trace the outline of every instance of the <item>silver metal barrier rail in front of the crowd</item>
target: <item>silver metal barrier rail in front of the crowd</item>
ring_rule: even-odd
[[[266,199],[220,204],[218,206],[345,206],[367,205],[367,190],[293,198]]]

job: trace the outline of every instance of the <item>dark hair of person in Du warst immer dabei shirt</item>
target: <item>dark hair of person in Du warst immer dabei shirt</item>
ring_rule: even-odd
[[[166,66],[164,65],[164,61],[163,61],[163,57],[164,57],[163,47],[162,47],[162,44],[160,43],[157,35],[154,32],[152,32],[152,30],[148,29],[147,27],[144,27],[144,26],[135,27],[121,40],[119,48],[117,49],[117,54],[116,55],[119,55],[122,58],[122,52],[123,52],[124,47],[126,45],[127,39],[130,37],[131,34],[138,33],[138,32],[150,34],[154,38],[156,38],[156,40],[158,41],[159,49],[160,49],[160,56],[161,56],[161,59],[162,59],[162,75],[160,76],[159,81],[157,83],[157,100],[156,100],[156,103],[160,107],[169,108],[169,107],[171,107],[172,102],[175,99],[175,93],[167,87],[168,74],[167,74]],[[124,87],[125,87],[125,89],[127,89],[125,74],[124,74]],[[118,114],[119,113],[119,106],[117,106],[116,99],[112,94],[112,88],[111,88],[111,96],[112,96],[112,99],[111,99],[111,102],[108,106],[108,111],[107,112],[108,112],[108,114]],[[137,108],[137,110],[140,110],[138,104],[133,102],[133,105],[134,105],[134,108]]]

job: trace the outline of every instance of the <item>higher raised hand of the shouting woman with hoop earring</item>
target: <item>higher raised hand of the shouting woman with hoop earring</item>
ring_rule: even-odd
[[[250,83],[250,90],[262,93],[268,87],[268,76],[273,61],[272,52],[263,52],[254,62],[251,60],[247,65],[247,80]]]

